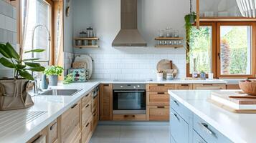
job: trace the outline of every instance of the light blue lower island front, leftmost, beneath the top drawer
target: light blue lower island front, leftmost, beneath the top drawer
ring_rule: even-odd
[[[171,136],[174,138],[174,141],[176,143],[188,143],[189,124],[174,109],[171,109],[170,117]]]

